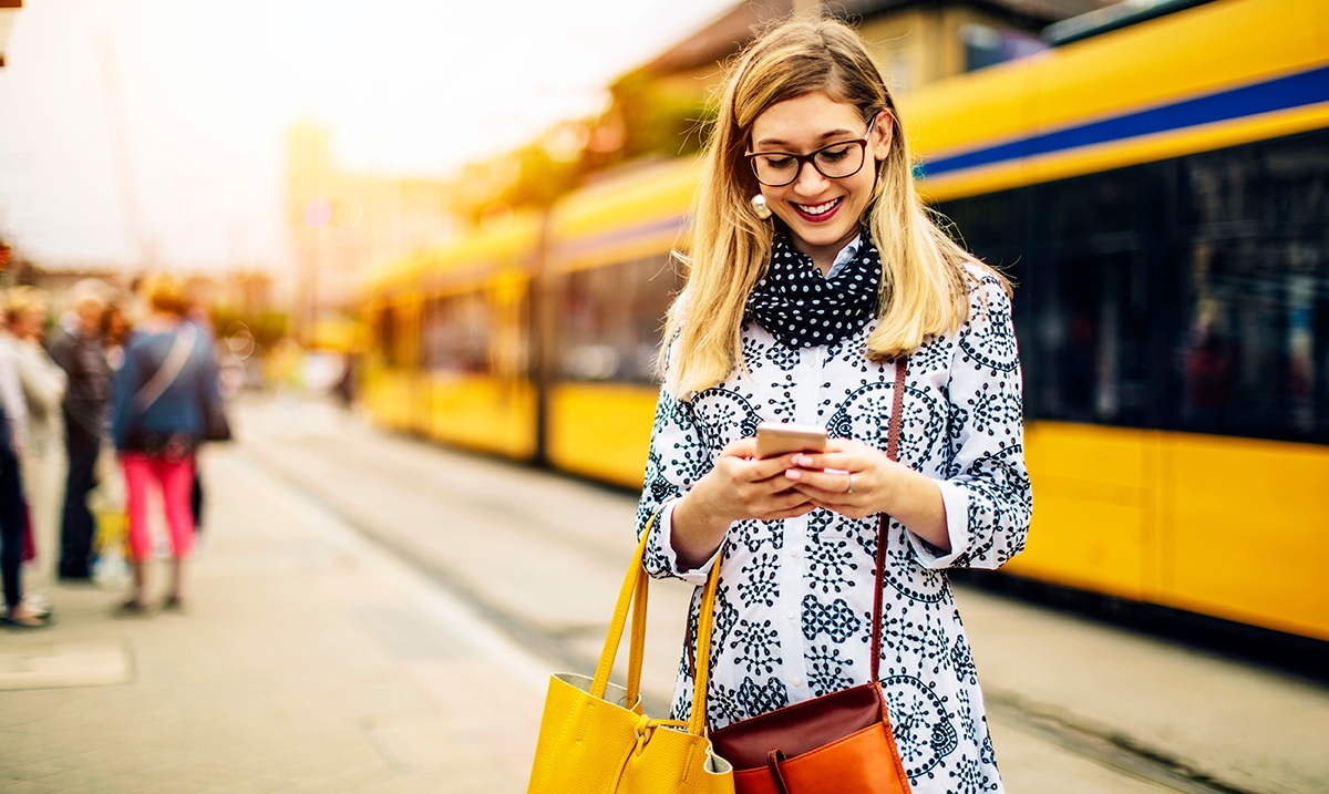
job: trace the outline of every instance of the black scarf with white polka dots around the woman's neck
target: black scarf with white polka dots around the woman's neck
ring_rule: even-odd
[[[877,312],[881,255],[867,232],[859,252],[833,279],[825,279],[784,234],[775,235],[771,267],[748,296],[747,309],[762,328],[791,348],[840,341]]]

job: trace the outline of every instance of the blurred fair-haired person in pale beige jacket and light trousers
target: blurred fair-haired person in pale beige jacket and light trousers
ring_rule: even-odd
[[[33,287],[9,291],[9,337],[27,406],[20,455],[24,495],[36,538],[36,566],[44,579],[56,574],[60,543],[60,477],[64,470],[64,421],[60,413],[68,376],[41,347],[47,327],[45,295]]]

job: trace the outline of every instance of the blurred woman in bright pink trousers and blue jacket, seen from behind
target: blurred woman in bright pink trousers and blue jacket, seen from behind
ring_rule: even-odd
[[[170,530],[173,576],[166,608],[185,605],[185,559],[194,542],[190,495],[194,450],[203,438],[205,417],[219,394],[217,361],[205,335],[185,320],[185,284],[169,275],[144,280],[149,316],[125,348],[116,373],[112,432],[125,470],[129,509],[129,552],[134,591],[121,605],[146,612],[146,563],[152,554],[148,530],[148,487],[162,493]]]

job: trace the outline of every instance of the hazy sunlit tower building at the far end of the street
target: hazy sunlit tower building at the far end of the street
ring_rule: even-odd
[[[299,327],[348,308],[373,264],[451,239],[457,223],[448,191],[443,179],[343,170],[332,159],[328,129],[292,125],[286,227],[298,264],[292,316]]]

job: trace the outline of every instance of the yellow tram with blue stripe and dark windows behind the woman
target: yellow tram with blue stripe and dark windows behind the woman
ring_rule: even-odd
[[[1329,5],[1219,0],[901,105],[922,191],[1018,284],[1037,509],[1005,570],[1329,640]],[[639,487],[695,181],[385,270],[375,416]]]

